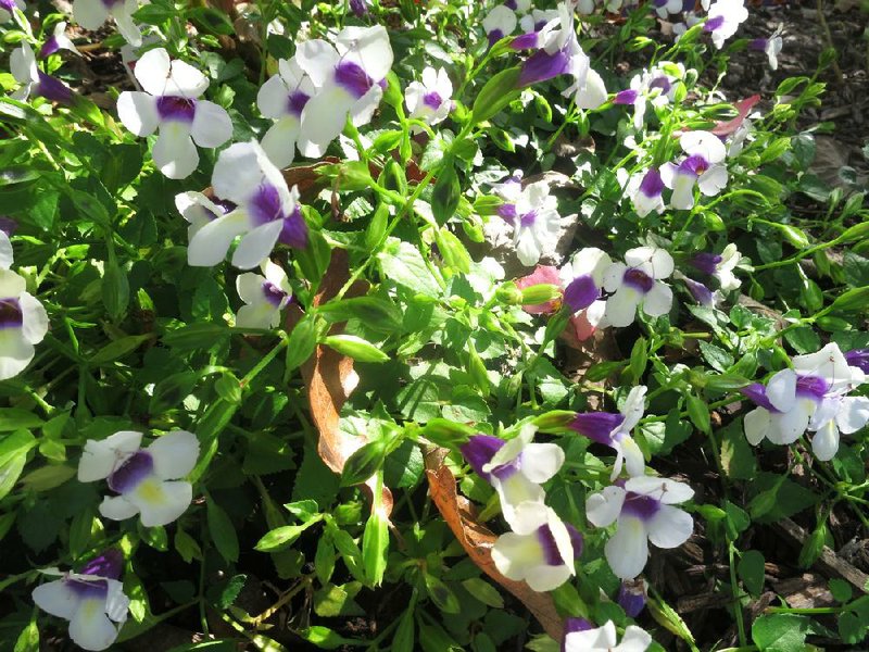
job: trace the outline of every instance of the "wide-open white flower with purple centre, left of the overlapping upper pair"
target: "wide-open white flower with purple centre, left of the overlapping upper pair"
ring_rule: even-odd
[[[184,61],[169,60],[163,48],[142,54],[135,74],[146,92],[122,92],[117,116],[137,136],[159,129],[154,163],[171,179],[182,179],[199,165],[193,141],[221,147],[232,135],[232,122],[223,106],[197,99],[209,87],[205,75]]]

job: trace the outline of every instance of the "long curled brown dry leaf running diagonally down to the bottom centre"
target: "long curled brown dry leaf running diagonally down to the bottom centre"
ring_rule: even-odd
[[[445,449],[431,448],[426,451],[429,493],[441,516],[480,570],[513,593],[534,615],[545,632],[561,641],[564,624],[552,595],[538,593],[524,581],[507,579],[499,573],[492,561],[492,546],[498,537],[477,522],[470,501],[456,491],[455,477],[443,464],[445,455]]]

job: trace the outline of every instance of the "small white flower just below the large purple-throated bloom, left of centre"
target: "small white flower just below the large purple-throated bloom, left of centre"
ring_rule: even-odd
[[[264,260],[260,265],[263,275],[248,272],[236,278],[238,296],[247,304],[236,315],[239,328],[275,328],[280,323],[280,311],[292,299],[292,288],[287,274],[278,265]]]

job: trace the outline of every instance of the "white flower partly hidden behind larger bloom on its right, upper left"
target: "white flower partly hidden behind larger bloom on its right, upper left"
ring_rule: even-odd
[[[325,147],[310,142],[302,134],[302,110],[314,97],[316,88],[295,57],[278,62],[279,74],[260,87],[256,105],[275,122],[263,136],[262,146],[272,162],[286,167],[295,158],[295,148],[305,156],[322,156]]]

